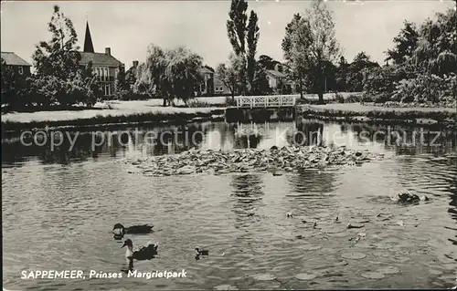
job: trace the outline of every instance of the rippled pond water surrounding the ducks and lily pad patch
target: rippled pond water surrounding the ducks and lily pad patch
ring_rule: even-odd
[[[53,150],[43,136],[37,139],[43,146],[23,145],[18,136],[2,140],[7,289],[457,285],[457,174],[452,155],[456,132],[317,120],[119,130],[130,134],[84,132],[73,146],[64,138]],[[160,135],[176,130],[182,132],[155,144],[144,136],[146,131]],[[388,130],[401,135],[382,134]],[[294,134],[297,131],[301,133]],[[124,162],[190,148],[269,149],[293,141],[344,143],[350,149],[382,152],[385,159],[282,176],[254,172],[146,177],[129,173],[132,165]],[[404,190],[427,195],[430,201],[401,205],[389,199]],[[294,216],[287,218],[288,212]],[[134,245],[150,240],[160,244],[153,260],[135,262],[134,269],[185,269],[186,278],[126,277],[125,249],[111,234],[115,223],[154,224],[153,234],[126,236]],[[347,223],[365,227],[346,229]],[[208,249],[209,256],[196,260],[197,245]],[[21,279],[23,270],[68,269],[83,270],[87,277]],[[90,270],[123,277],[89,279]]]

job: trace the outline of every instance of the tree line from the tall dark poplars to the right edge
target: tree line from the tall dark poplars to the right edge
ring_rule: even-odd
[[[245,0],[231,2],[227,29],[233,52],[217,72],[233,94],[269,94],[265,69],[276,61],[268,56],[255,60],[260,29],[257,15],[251,11],[248,18],[247,8]],[[332,12],[324,0],[314,0],[285,27],[280,68],[287,78],[279,88],[302,97],[317,94],[320,102],[327,91],[363,92],[362,101],[455,102],[455,15],[455,7],[450,8],[419,28],[405,20],[382,66],[364,51],[348,63],[335,36]]]

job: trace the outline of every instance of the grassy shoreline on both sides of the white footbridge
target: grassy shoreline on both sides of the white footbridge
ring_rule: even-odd
[[[132,125],[183,124],[225,120],[225,109],[156,107],[145,103],[124,103],[114,109],[80,111],[40,111],[2,115],[2,133],[43,129],[112,128]],[[452,108],[386,108],[359,103],[297,105],[296,116],[305,119],[398,123],[457,129],[457,112]]]

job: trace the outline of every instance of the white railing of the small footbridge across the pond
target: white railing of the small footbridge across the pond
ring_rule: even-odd
[[[266,95],[266,96],[237,96],[237,108],[267,108],[295,106],[299,95]]]

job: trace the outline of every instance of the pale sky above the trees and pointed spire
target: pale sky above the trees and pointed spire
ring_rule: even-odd
[[[35,45],[49,40],[48,22],[52,6],[68,16],[83,47],[86,21],[96,52],[111,47],[112,56],[127,68],[133,60],[143,62],[149,44],[190,48],[215,68],[228,60],[231,46],[226,22],[230,1],[13,1],[1,2],[1,50],[13,51],[32,63]],[[249,10],[259,16],[257,56],[282,61],[285,26],[295,13],[303,13],[309,0],[249,1]],[[403,21],[422,23],[436,12],[454,6],[453,1],[366,0],[363,5],[328,1],[336,37],[343,56],[352,60],[360,51],[383,63],[385,51],[393,47]]]

